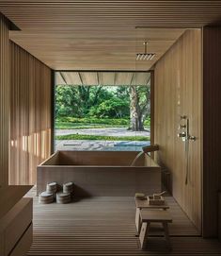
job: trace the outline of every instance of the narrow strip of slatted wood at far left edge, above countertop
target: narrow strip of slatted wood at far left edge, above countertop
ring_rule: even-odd
[[[8,20],[0,13],[0,186],[8,184],[9,40]]]

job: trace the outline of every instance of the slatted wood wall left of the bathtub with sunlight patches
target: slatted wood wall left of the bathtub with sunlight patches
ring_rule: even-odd
[[[51,154],[52,71],[10,43],[10,184],[34,184]]]

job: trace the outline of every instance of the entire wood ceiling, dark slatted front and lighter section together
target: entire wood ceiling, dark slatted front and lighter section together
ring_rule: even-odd
[[[219,0],[6,0],[0,9],[22,29],[12,32],[11,40],[60,70],[149,70],[174,42],[172,29],[165,34],[162,28],[201,27],[221,20]],[[146,39],[157,55],[135,63],[134,55],[143,50]]]

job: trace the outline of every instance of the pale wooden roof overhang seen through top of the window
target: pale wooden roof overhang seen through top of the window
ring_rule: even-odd
[[[150,72],[56,72],[56,85],[150,85]]]

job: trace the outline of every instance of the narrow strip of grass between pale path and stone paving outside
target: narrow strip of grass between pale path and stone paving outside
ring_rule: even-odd
[[[149,136],[103,136],[87,134],[57,135],[55,140],[150,141]]]

